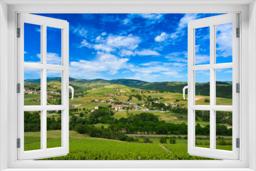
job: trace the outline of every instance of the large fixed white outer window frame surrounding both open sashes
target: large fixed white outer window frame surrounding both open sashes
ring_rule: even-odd
[[[2,1],[0,2],[0,108],[1,110],[1,127],[0,127],[0,162],[1,169],[19,170],[18,168],[31,168],[31,170],[39,170],[37,168],[46,168],[46,170],[54,170],[54,168],[84,168],[83,170],[92,170],[90,168],[103,168],[109,170],[121,170],[120,168],[131,168],[131,170],[255,170],[256,169],[256,152],[255,152],[255,111],[256,111],[256,6],[254,1],[151,1],[151,2],[68,2],[71,5],[61,5],[68,1]],[[7,6],[7,4],[13,4]],[[38,5],[44,4],[44,5]],[[50,5],[58,4],[58,5]],[[75,4],[79,5],[75,5]],[[94,5],[92,5],[94,3]],[[102,4],[99,4],[102,3]],[[104,4],[103,4],[104,3]],[[116,4],[115,4],[116,3]],[[200,5],[203,3],[204,5]],[[16,5],[15,5],[16,4]],[[22,5],[25,4],[25,5]],[[27,4],[27,5],[26,5]],[[33,5],[29,5],[33,4]],[[177,5],[180,4],[180,5]],[[224,5],[223,5],[224,4]],[[226,4],[226,5],[225,5]],[[8,9],[8,11],[7,11]],[[249,13],[248,13],[249,11]],[[223,161],[17,161],[16,153],[16,14],[18,12],[30,13],[240,13],[240,78],[241,78],[241,94],[240,94],[240,160],[223,160]],[[4,14],[4,15],[3,15]],[[250,14],[250,15],[249,15]],[[7,22],[8,16],[8,22]],[[8,37],[7,37],[8,34]],[[248,36],[250,34],[250,36]],[[3,39],[4,37],[4,39]],[[8,40],[8,44],[6,44]],[[250,43],[250,44],[249,44]],[[8,48],[8,51],[5,49]],[[8,56],[8,59],[7,57]],[[250,62],[249,62],[250,61]],[[8,65],[8,74],[6,74]],[[250,68],[250,72],[249,69]],[[3,73],[5,72],[5,73]],[[250,79],[249,79],[250,77]],[[8,84],[5,83],[8,81]],[[250,83],[250,84],[249,84]],[[4,90],[7,88],[8,92]],[[250,88],[250,93],[249,93]],[[5,98],[2,95],[6,95]],[[4,102],[8,96],[8,104]],[[249,101],[250,99],[250,101]],[[250,104],[250,106],[248,105]],[[3,108],[8,105],[8,109]],[[8,112],[8,116],[3,115]],[[243,116],[243,117],[242,117]],[[6,131],[7,128],[7,131]],[[249,132],[249,129],[251,130]],[[250,136],[249,136],[250,135]],[[6,149],[6,146],[7,149]],[[250,148],[250,150],[249,150]],[[6,157],[7,156],[7,157]],[[13,168],[13,169],[12,169]],[[16,168],[16,169],[14,169]],[[113,169],[111,169],[113,168]],[[119,168],[119,169],[118,169]],[[136,169],[137,168],[137,169]],[[183,169],[182,169],[183,168]],[[250,169],[251,168],[251,169]],[[176,170],[177,170],[176,169]],[[28,169],[26,169],[28,170]],[[74,169],[70,169],[74,170]],[[95,169],[94,169],[95,170]],[[127,170],[127,169],[126,169]]]

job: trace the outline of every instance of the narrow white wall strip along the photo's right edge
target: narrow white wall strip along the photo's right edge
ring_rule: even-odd
[[[256,170],[256,3],[249,5],[249,168]]]

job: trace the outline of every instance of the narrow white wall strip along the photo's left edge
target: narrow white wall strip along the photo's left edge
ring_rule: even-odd
[[[0,2],[0,129],[7,130],[8,6]],[[7,168],[7,131],[0,132],[0,170]]]

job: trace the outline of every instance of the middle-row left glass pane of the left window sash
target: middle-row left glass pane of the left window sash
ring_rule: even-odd
[[[24,69],[24,105],[41,105],[40,69]]]

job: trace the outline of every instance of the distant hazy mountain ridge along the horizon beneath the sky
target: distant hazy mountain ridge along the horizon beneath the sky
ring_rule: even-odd
[[[121,84],[128,87],[134,87],[144,90],[158,90],[158,91],[168,91],[173,93],[182,93],[182,89],[187,85],[187,82],[179,81],[163,81],[163,82],[146,82],[135,79],[75,79],[69,78],[70,84],[74,86],[75,89],[83,89],[81,85],[83,84]],[[48,77],[47,82],[50,81],[61,81],[60,77]],[[24,81],[25,83],[40,83],[40,79],[28,79]],[[100,87],[100,86],[98,86]],[[210,83],[196,83],[196,95],[210,95]],[[232,98],[232,81],[216,81],[216,92],[218,97]]]

